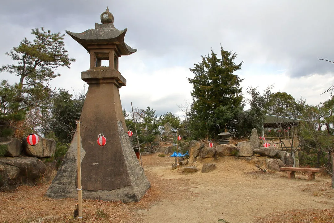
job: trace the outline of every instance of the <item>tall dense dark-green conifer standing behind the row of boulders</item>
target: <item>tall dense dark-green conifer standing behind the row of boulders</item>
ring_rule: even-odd
[[[211,48],[211,53],[202,56],[202,61],[190,69],[195,74],[193,79],[188,78],[193,86],[189,124],[194,138],[213,137],[224,130],[225,124],[230,131],[236,131],[236,116],[242,112],[242,80],[233,74],[241,69],[242,62],[235,64],[237,54],[223,50],[222,46],[220,53],[221,59]],[[226,111],[229,115],[217,120]]]

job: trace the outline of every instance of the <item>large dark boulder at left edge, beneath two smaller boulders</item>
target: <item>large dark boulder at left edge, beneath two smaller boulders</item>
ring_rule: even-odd
[[[45,171],[45,164],[36,157],[0,157],[0,187],[15,190],[22,184],[34,185]]]

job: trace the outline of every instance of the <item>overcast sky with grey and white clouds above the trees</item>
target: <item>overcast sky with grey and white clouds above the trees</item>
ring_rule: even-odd
[[[320,95],[334,84],[334,1],[332,0],[19,0],[2,1],[0,7],[0,66],[12,64],[5,55],[31,29],[43,26],[52,32],[83,32],[101,23],[100,14],[109,6],[114,25],[128,31],[125,42],[138,49],[119,59],[119,71],[127,80],[120,89],[123,108],[156,109],[181,115],[177,105],[191,101],[194,75],[189,68],[210,49],[238,53],[243,61],[236,72],[250,87],[287,92],[296,100],[316,105],[329,98]],[[89,69],[89,54],[65,36],[71,69],[61,68],[52,87],[70,93],[83,89],[80,73]],[[0,73],[0,79],[18,82],[19,77]],[[87,86],[86,86],[87,88]],[[247,97],[245,95],[245,97]]]

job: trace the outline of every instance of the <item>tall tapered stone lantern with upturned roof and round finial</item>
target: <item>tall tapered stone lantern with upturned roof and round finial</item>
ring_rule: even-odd
[[[101,14],[101,22],[81,33],[66,31],[90,54],[90,69],[81,72],[81,80],[89,85],[80,116],[82,197],[139,201],[150,183],[129,140],[119,95],[126,79],[118,71],[118,58],[137,49],[124,42],[127,28],[120,31],[114,27],[114,16],[108,8]],[[108,67],[102,66],[103,60],[109,60]],[[107,138],[103,147],[97,144],[100,133]],[[77,197],[76,147],[74,135],[46,196]]]

